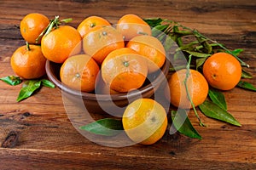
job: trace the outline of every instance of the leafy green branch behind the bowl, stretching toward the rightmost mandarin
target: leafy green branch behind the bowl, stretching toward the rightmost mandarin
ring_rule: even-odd
[[[193,63],[196,63],[196,69],[198,69],[203,65],[207,57],[218,51],[224,51],[236,57],[236,59],[240,61],[241,66],[249,68],[249,65],[242,61],[234,51],[226,48],[224,44],[202,35],[201,32],[197,30],[190,29],[173,20],[163,20],[160,18],[144,20],[149,26],[153,27],[152,35],[158,37],[160,41],[163,42],[166,51],[172,47],[172,45],[170,45],[172,43],[170,42],[177,43],[178,48],[175,50],[174,59],[181,57],[179,52],[183,52],[187,59],[188,55],[191,54],[193,59],[195,59]]]

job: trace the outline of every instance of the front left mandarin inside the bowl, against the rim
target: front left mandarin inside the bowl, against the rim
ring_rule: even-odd
[[[96,61],[89,55],[73,55],[61,65],[61,82],[69,88],[91,92],[95,88],[99,70]]]

